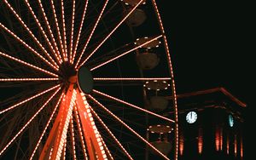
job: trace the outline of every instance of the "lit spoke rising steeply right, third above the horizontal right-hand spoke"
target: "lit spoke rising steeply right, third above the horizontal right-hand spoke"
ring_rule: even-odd
[[[82,52],[81,52],[81,54],[79,56],[79,60],[77,61],[76,65],[75,65],[75,68],[77,68],[79,66],[79,62],[80,62],[80,60],[81,60],[81,58],[82,58],[82,56],[84,54],[85,49],[87,48],[87,45],[90,43],[90,38],[92,37],[92,35],[93,35],[93,33],[94,33],[95,29],[96,29],[96,26],[98,26],[98,23],[99,23],[99,21],[102,18],[102,14],[103,14],[104,10],[106,9],[107,4],[108,4],[108,0],[106,0],[106,2],[104,3],[102,11],[101,11],[101,13],[98,16],[98,19],[96,20],[96,24],[93,26],[93,29],[90,31],[90,36],[88,37],[86,43],[84,44],[84,49],[82,50]]]

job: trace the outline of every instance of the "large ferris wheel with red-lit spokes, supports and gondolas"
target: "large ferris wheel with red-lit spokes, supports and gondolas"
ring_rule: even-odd
[[[0,8],[1,159],[177,159],[177,97],[155,0]]]

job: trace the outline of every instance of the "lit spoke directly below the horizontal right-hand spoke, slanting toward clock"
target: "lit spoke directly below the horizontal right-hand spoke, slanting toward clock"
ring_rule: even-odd
[[[153,115],[153,116],[155,116],[155,117],[160,117],[161,119],[164,119],[164,120],[166,120],[166,121],[169,121],[169,122],[174,123],[174,121],[173,121],[172,119],[170,119],[170,118],[163,117],[163,116],[161,116],[161,115],[159,115],[159,114],[156,114],[156,113],[154,113],[154,112],[152,112],[152,111],[148,111],[148,110],[145,110],[145,109],[143,109],[143,108],[141,108],[141,107],[139,107],[139,106],[132,105],[131,103],[126,102],[125,100],[119,100],[118,98],[115,98],[115,97],[113,97],[113,96],[111,96],[111,95],[108,95],[108,94],[104,94],[104,93],[102,93],[102,92],[100,92],[100,91],[97,91],[96,89],[93,89],[92,91],[93,91],[93,93],[95,93],[95,94],[100,94],[100,95],[102,95],[102,96],[104,96],[104,97],[107,97],[107,98],[110,99],[110,100],[118,101],[119,103],[125,104],[126,106],[131,106],[132,108],[136,108],[137,110],[147,112],[148,114],[151,114],[151,115]]]

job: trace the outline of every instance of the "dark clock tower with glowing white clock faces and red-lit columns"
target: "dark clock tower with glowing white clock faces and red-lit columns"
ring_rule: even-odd
[[[224,88],[177,96],[179,159],[241,160],[246,104]]]

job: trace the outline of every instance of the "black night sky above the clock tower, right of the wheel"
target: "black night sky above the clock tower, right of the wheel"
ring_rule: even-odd
[[[228,89],[247,103],[245,132],[253,135],[253,5],[241,1],[158,2],[172,52],[177,93],[219,86]],[[247,144],[253,141],[248,138]]]

